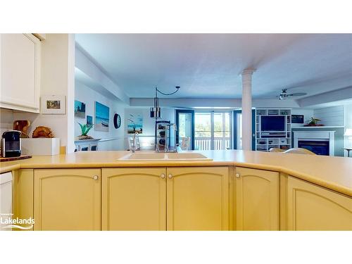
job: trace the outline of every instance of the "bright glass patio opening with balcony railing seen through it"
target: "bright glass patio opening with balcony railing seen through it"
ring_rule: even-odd
[[[195,149],[231,148],[231,113],[196,112],[195,113]]]

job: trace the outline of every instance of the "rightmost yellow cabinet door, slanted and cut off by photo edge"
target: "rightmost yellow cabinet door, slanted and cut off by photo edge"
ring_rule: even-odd
[[[288,179],[289,230],[352,230],[352,197]]]

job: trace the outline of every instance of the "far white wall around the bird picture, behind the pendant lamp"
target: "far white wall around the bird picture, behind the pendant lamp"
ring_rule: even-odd
[[[139,144],[141,144],[142,149],[153,149],[155,118],[150,117],[150,108],[125,108],[125,135],[126,137],[132,137],[131,134],[127,134],[127,119],[130,114],[135,115],[141,112],[143,114],[143,133],[139,135]],[[160,120],[175,122],[175,108],[161,108]],[[125,147],[128,148],[127,140],[125,141]]]

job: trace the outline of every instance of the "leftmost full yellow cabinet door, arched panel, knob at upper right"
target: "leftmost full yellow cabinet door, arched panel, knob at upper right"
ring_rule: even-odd
[[[34,230],[101,230],[101,169],[34,170]]]

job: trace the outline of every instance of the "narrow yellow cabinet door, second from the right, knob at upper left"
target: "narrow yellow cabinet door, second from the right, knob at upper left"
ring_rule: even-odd
[[[279,230],[279,173],[236,167],[236,229]]]

